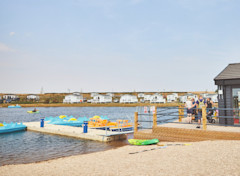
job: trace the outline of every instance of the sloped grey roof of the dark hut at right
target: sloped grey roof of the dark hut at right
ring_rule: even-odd
[[[229,64],[214,80],[240,79],[240,63]]]

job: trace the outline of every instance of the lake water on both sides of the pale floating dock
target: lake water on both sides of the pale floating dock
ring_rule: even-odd
[[[32,122],[42,117],[73,115],[74,117],[107,116],[110,120],[133,120],[132,107],[49,107],[38,108],[39,114],[29,114],[33,108],[0,108],[0,122]],[[39,123],[40,124],[40,123]],[[130,138],[132,135],[130,135]],[[126,145],[127,141],[102,143],[90,140],[22,131],[0,135],[0,166],[39,162],[59,157],[97,152]]]

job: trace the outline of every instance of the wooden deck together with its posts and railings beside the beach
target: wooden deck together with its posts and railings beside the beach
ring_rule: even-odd
[[[219,110],[222,110],[218,108]],[[134,117],[134,138],[135,139],[153,139],[157,138],[160,141],[171,142],[197,142],[206,140],[240,140],[240,128],[239,124],[234,126],[225,126],[218,123],[207,123],[206,107],[202,108],[202,125],[201,128],[197,122],[189,124],[186,122],[186,116],[184,115],[184,107],[176,108],[162,108],[159,112],[154,112],[151,116],[148,114],[135,112]],[[172,121],[165,121],[163,117],[172,117]],[[146,120],[142,120],[144,118]],[[213,118],[234,118],[225,116],[214,116]],[[149,123],[152,126],[148,129],[138,130],[136,126],[139,123]]]

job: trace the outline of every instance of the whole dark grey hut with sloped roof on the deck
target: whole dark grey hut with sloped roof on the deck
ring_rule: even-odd
[[[229,64],[214,78],[214,81],[218,86],[219,116],[239,119],[240,63]],[[219,123],[234,125],[234,118],[222,117],[219,118]]]

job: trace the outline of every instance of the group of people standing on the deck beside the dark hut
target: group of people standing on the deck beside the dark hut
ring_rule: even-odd
[[[203,106],[206,106],[208,110],[208,115],[211,115],[213,113],[213,102],[211,98],[207,98],[207,100],[204,100],[203,97],[200,95],[199,99],[195,101],[194,98],[189,97],[185,103],[185,107],[187,108],[187,122],[192,123],[192,120],[195,119],[195,117],[197,116],[197,128],[200,128],[201,125]]]

